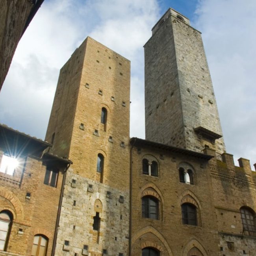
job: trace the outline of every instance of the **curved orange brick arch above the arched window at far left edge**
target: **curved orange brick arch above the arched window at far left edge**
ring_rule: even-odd
[[[11,191],[6,189],[5,187],[0,187],[0,197],[6,198],[13,205],[14,209],[11,210],[13,214],[13,219],[16,221],[23,221],[24,219],[24,209],[18,197],[13,194]],[[15,212],[13,212],[15,211]]]

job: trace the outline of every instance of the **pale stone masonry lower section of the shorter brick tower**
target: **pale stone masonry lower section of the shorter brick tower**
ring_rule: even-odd
[[[72,180],[76,180],[75,185]],[[120,199],[120,196],[123,199]],[[97,231],[93,230],[93,217],[96,211],[100,213],[99,236]],[[56,256],[74,255],[74,253],[85,255],[82,254],[84,245],[88,246],[91,256],[102,255],[103,249],[106,249],[110,256],[119,253],[127,255],[128,190],[113,189],[108,185],[74,174],[70,169],[65,183],[60,223]],[[69,241],[68,250],[63,250],[65,240]]]

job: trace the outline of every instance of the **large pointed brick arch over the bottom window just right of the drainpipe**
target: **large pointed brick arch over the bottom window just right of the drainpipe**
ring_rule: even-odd
[[[135,241],[137,239],[139,239],[139,237],[141,237],[141,236],[143,236],[143,235],[145,235],[147,233],[152,233],[153,235],[155,235],[162,242],[162,244],[165,246],[165,249],[167,250],[168,255],[169,256],[173,256],[173,252],[172,252],[171,248],[169,247],[169,244],[167,243],[167,241],[163,237],[163,235],[160,232],[158,232],[158,230],[153,228],[152,226],[147,226],[145,228],[142,228],[141,230],[138,230],[134,234],[134,236],[132,237],[132,245],[135,243]],[[147,244],[147,243],[154,244],[153,247],[156,248],[156,249],[160,248],[160,249],[158,249],[160,251],[163,250],[163,248],[160,247],[160,245],[155,245],[155,243],[152,243],[152,242],[151,243],[150,242],[146,242],[146,243],[143,243],[143,244]],[[143,246],[143,244],[141,244],[141,246]],[[147,247],[147,246],[145,246],[145,247]],[[144,248],[144,247],[141,247],[141,248]]]

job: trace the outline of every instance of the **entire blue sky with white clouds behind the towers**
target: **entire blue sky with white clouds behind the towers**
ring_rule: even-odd
[[[130,137],[145,138],[143,45],[169,7],[202,32],[226,151],[254,169],[255,0],[45,0],[0,92],[0,122],[44,139],[59,69],[89,35],[130,59]]]

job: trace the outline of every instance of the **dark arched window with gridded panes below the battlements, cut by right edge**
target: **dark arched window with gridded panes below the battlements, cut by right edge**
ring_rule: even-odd
[[[243,234],[247,236],[256,236],[255,213],[249,207],[241,207],[241,219],[243,223]]]

